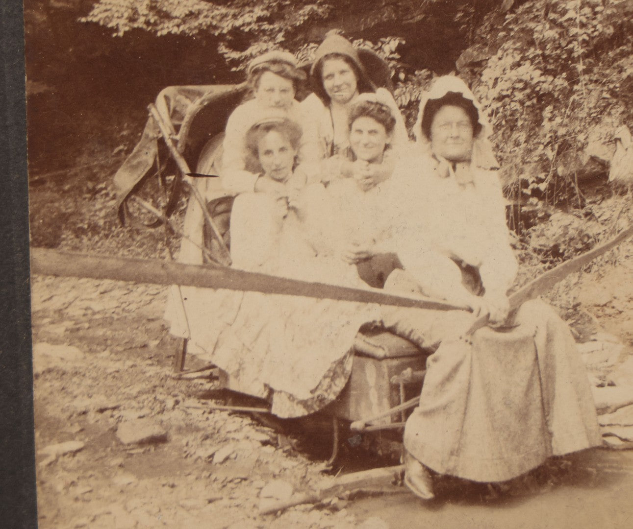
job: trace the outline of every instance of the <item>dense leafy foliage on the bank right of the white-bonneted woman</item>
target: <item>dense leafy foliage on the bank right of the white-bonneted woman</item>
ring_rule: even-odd
[[[534,0],[482,27],[489,58],[472,72],[475,92],[527,200],[555,202],[563,188],[580,199],[587,148],[605,147],[633,116],[632,17],[631,2]]]

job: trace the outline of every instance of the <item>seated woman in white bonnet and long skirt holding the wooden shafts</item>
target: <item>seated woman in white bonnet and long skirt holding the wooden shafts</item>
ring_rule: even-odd
[[[383,324],[435,352],[404,430],[405,482],[433,497],[432,476],[500,482],[550,456],[601,444],[572,334],[540,300],[508,319],[517,273],[497,164],[479,104],[459,78],[437,78],[420,103],[420,153],[396,167],[404,270],[385,288],[472,312],[383,308]],[[475,318],[491,327],[472,336]]]

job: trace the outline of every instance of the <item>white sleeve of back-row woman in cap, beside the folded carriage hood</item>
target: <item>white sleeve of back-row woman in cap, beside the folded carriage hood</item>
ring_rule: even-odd
[[[253,191],[258,175],[246,171],[246,143],[244,138],[250,128],[252,116],[249,116],[248,103],[237,107],[229,116],[222,143],[222,187],[230,192],[243,193]]]

